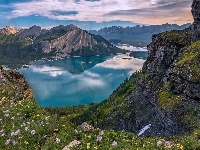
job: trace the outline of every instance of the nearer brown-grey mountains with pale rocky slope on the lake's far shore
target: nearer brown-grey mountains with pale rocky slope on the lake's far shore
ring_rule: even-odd
[[[59,25],[49,30],[39,26],[0,29],[0,64],[25,64],[35,59],[69,56],[94,56],[123,53],[99,35],[74,25]],[[23,59],[20,59],[23,58]]]

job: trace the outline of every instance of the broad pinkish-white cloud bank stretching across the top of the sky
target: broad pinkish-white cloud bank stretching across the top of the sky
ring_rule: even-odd
[[[182,24],[192,22],[191,4],[192,0],[32,0],[9,5],[9,18],[36,14],[55,20]]]

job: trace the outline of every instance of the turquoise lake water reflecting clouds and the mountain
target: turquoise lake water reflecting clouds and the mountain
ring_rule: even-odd
[[[100,102],[115,90],[144,60],[117,56],[71,57],[35,61],[21,68],[34,97],[42,107],[62,107]]]

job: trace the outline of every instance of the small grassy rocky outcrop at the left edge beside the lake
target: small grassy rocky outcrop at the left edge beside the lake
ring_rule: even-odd
[[[0,66],[0,106],[16,104],[19,101],[33,99],[33,90],[25,77],[14,70],[4,70]]]

